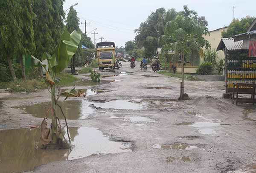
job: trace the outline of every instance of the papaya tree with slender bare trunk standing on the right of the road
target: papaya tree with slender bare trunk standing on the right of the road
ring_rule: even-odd
[[[180,86],[180,99],[184,99],[184,57],[197,53],[202,53],[202,48],[209,47],[207,40],[202,37],[203,34],[209,34],[207,21],[204,17],[189,10],[187,6],[183,6],[184,10],[178,12],[175,20],[169,21],[165,26],[165,35],[170,38],[170,42],[164,46],[162,52],[173,50],[176,57],[181,56],[182,60],[182,82]]]

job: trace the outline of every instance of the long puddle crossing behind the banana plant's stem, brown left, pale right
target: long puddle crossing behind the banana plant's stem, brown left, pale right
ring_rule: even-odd
[[[22,110],[25,114],[33,115],[38,118],[44,118],[47,110],[50,108],[51,102],[43,102],[40,104],[26,105],[21,107],[13,107]],[[96,103],[86,100],[69,100],[60,101],[62,110],[67,119],[78,120],[86,119],[96,109],[121,109],[121,110],[142,110],[144,106],[141,104],[131,103],[125,100],[110,101],[105,103]],[[61,110],[57,107],[57,116],[59,119],[64,119],[61,114]],[[47,118],[51,117],[51,113],[48,112]]]

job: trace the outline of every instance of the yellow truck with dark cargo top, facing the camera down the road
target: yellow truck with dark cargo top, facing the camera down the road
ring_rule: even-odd
[[[111,68],[115,66],[115,43],[114,42],[100,42],[96,44],[97,59],[99,69]]]

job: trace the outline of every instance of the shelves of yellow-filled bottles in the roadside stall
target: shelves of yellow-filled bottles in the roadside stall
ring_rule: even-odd
[[[227,61],[227,89],[232,89],[234,83],[256,83],[256,59],[244,58]]]

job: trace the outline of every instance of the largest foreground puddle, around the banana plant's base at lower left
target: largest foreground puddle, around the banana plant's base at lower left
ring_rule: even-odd
[[[52,161],[132,151],[131,142],[110,141],[96,128],[70,128],[72,151],[41,150],[40,134],[40,129],[0,130],[0,172],[20,173]]]

